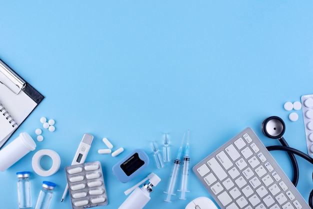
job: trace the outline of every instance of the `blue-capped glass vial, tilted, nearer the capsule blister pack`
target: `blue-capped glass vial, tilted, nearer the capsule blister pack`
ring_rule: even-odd
[[[52,190],[54,189],[55,186],[56,186],[55,183],[52,183],[50,181],[42,182],[42,188],[39,192],[35,209],[48,209],[49,208],[51,198],[53,196]]]

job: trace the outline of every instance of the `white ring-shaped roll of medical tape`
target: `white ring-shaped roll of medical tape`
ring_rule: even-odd
[[[52,158],[52,166],[48,170],[43,169],[40,165],[40,160],[44,155]],[[52,149],[40,149],[32,156],[31,165],[32,169],[38,175],[49,176],[54,174],[58,170],[61,165],[61,158],[58,153],[56,153],[56,151],[53,151]]]

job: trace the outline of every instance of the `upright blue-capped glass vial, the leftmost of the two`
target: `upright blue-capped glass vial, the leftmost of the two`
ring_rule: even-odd
[[[17,181],[17,197],[18,197],[18,208],[29,208],[31,207],[31,188],[29,171],[16,172],[18,177]]]

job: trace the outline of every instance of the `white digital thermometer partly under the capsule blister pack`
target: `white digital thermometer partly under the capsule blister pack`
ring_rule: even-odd
[[[93,135],[89,133],[83,134],[82,139],[74,155],[74,158],[71,162],[71,165],[83,163],[85,161],[87,154],[89,152],[92,140],[93,140]],[[68,190],[68,185],[66,184],[61,201],[63,201],[63,199],[65,198],[67,190]]]

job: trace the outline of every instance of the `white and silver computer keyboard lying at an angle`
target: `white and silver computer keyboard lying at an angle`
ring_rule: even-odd
[[[197,163],[193,172],[221,208],[310,208],[251,128]]]

